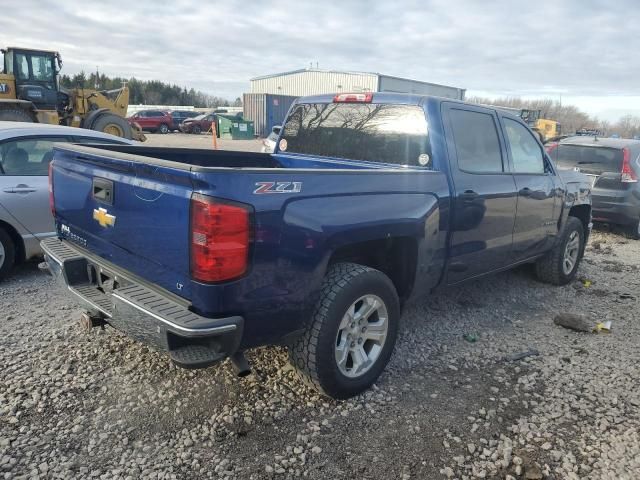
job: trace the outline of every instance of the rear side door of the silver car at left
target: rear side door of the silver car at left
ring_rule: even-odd
[[[49,162],[67,136],[32,136],[0,144],[0,204],[31,234],[54,232],[49,208]]]

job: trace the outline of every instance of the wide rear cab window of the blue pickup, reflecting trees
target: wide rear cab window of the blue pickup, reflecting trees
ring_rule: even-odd
[[[283,127],[282,139],[280,150],[292,153],[431,165],[427,121],[424,110],[417,105],[298,105]]]

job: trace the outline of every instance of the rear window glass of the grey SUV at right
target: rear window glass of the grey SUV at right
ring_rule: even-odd
[[[622,170],[622,150],[615,148],[560,144],[551,152],[551,158],[560,170],[578,167],[592,175]]]

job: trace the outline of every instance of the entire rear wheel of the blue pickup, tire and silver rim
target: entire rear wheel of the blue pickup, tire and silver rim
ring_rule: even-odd
[[[302,380],[333,398],[369,388],[387,365],[398,332],[396,289],[384,273],[333,265],[307,331],[289,347]]]

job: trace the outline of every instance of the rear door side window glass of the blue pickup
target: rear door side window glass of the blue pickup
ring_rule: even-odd
[[[502,173],[502,152],[493,116],[455,108],[449,114],[458,168],[470,173]]]

